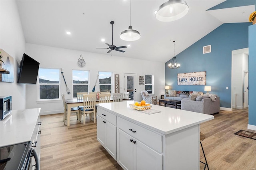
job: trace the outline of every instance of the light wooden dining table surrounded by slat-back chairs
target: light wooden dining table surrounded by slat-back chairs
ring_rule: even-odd
[[[123,100],[131,100],[131,98],[123,99]],[[113,102],[113,97],[110,97],[110,102]],[[70,115],[71,115],[71,108],[72,107],[79,107],[84,105],[84,100],[83,99],[66,99],[65,100],[65,108],[64,112],[67,111],[67,126],[70,126]],[[96,99],[96,103],[99,103],[99,99]],[[66,113],[64,113],[66,114]],[[80,122],[80,117],[78,117],[78,121]]]

